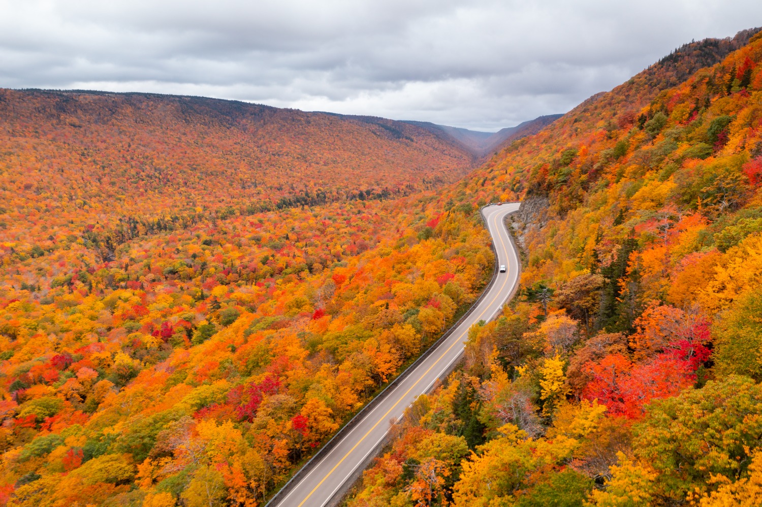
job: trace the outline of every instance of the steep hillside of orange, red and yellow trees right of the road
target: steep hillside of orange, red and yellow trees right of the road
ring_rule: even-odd
[[[684,46],[456,187],[523,200],[520,298],[348,505],[762,504],[755,31]]]

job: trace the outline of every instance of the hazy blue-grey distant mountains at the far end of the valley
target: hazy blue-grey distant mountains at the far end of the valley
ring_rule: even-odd
[[[480,132],[478,130],[460,129],[458,127],[437,125],[436,123],[429,122],[406,121],[405,123],[427,129],[435,135],[443,133],[447,138],[463,145],[476,158],[484,158],[516,139],[536,134],[555,120],[558,120],[561,116],[563,115],[549,114],[539,116],[534,120],[520,123],[517,126],[500,129],[498,132]]]

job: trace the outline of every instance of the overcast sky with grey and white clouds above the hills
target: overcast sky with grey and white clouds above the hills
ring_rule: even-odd
[[[734,0],[0,0],[0,87],[151,91],[497,130],[676,46]]]

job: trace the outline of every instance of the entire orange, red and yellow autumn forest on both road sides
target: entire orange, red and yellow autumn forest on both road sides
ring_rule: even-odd
[[[520,290],[347,507],[762,503],[762,33],[488,158],[414,122],[0,89],[0,507],[257,507]]]

